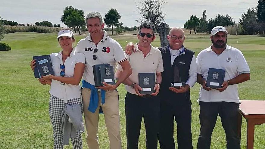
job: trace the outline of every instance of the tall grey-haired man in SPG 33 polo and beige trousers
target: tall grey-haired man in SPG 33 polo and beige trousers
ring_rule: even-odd
[[[111,39],[104,29],[103,18],[98,12],[86,16],[86,26],[89,35],[81,39],[75,50],[84,53],[86,69],[82,81],[82,98],[86,123],[86,142],[90,149],[99,149],[98,119],[99,109],[104,112],[110,149],[121,149],[119,99],[116,88],[132,74],[131,66],[120,44]],[[103,82],[105,86],[95,88],[92,66],[95,64],[110,64],[114,68],[120,64],[123,73],[115,85]]]

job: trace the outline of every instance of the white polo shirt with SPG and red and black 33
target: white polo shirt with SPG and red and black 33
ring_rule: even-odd
[[[98,42],[97,46],[92,42],[89,34],[86,38],[81,39],[75,48],[76,52],[83,53],[86,56],[86,69],[83,79],[92,85],[95,85],[93,65],[110,64],[113,66],[113,69],[115,69],[117,63],[119,64],[127,59],[120,44],[116,40],[110,38],[106,31],[102,30],[102,32],[104,33],[103,39],[101,42]],[[97,59],[93,60],[93,51],[95,48],[98,49],[95,53]]]

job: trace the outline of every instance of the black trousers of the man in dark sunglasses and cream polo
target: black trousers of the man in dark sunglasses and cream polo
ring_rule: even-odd
[[[142,123],[145,122],[147,149],[157,149],[160,122],[160,99],[157,96],[139,97],[127,92],[125,97],[127,149],[138,149]]]

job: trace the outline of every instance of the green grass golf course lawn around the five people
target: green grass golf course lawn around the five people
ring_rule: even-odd
[[[186,35],[184,45],[195,51],[195,55],[210,46],[208,34]],[[57,34],[42,33],[11,33],[5,36],[2,42],[8,43],[11,51],[0,51],[0,148],[53,148],[53,132],[48,115],[49,86],[41,85],[34,78],[30,69],[32,56],[51,54],[61,51],[57,42]],[[84,36],[76,36],[77,41]],[[136,35],[121,35],[121,38],[112,36],[124,48],[127,42],[137,42]],[[237,43],[238,42],[238,43]],[[239,84],[241,100],[265,100],[264,90],[264,61],[265,37],[262,36],[228,36],[228,44],[239,48],[245,55],[251,70],[251,79]],[[157,38],[153,46],[160,46]],[[192,141],[197,147],[199,124],[198,91],[200,85],[191,88],[192,100]],[[126,148],[126,125],[124,85],[118,87],[120,95],[120,118],[122,146]],[[264,107],[265,108],[265,107]],[[175,127],[175,143],[176,127]],[[265,125],[255,126],[254,148],[265,148]],[[109,148],[108,133],[104,123],[104,116],[100,115],[99,142],[102,149]],[[82,134],[83,147],[87,148],[86,132]],[[241,147],[246,148],[246,121],[242,119]],[[72,146],[65,146],[72,148]],[[145,127],[142,123],[139,137],[139,149],[145,148]],[[177,147],[176,147],[177,148]],[[221,125],[220,117],[212,135],[212,149],[226,148],[226,137]]]

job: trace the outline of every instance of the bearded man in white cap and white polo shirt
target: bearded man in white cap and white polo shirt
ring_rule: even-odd
[[[198,149],[210,149],[211,135],[219,114],[226,133],[226,148],[240,149],[237,135],[237,114],[239,96],[237,84],[250,79],[250,69],[241,51],[226,44],[227,31],[216,26],[211,31],[212,45],[202,50],[197,58],[197,82],[201,84],[199,93],[200,135]],[[209,68],[226,70],[221,88],[206,86]]]

